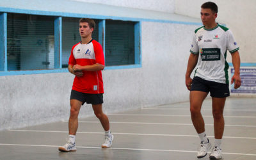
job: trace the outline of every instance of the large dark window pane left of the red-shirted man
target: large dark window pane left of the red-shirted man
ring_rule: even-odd
[[[54,17],[8,13],[8,70],[54,68]]]

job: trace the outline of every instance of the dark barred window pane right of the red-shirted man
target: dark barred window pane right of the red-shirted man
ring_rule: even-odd
[[[106,65],[134,64],[134,24],[106,20]]]

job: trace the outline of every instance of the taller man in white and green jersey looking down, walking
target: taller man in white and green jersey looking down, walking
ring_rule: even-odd
[[[205,157],[212,148],[205,134],[204,119],[201,115],[202,103],[210,92],[212,97],[212,115],[214,118],[214,145],[210,159],[221,159],[221,139],[224,132],[223,109],[226,97],[230,95],[228,88],[227,50],[231,53],[235,69],[231,84],[234,88],[241,85],[239,47],[230,29],[216,23],[218,6],[207,2],[201,6],[201,20],[203,27],[195,30],[191,45],[191,54],[186,71],[186,86],[190,91],[190,112],[193,125],[200,138],[198,158]],[[196,67],[195,76],[191,79],[191,72]]]

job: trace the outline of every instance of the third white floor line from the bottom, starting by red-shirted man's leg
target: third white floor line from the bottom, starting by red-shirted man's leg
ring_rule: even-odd
[[[61,122],[68,122],[62,120]],[[79,123],[100,123],[99,121],[83,121],[79,120]],[[110,122],[111,124],[149,124],[149,125],[193,125],[193,124],[171,124],[171,123],[150,123],[150,122]],[[213,126],[213,124],[205,124],[206,126]],[[228,125],[225,127],[256,127],[256,125]]]

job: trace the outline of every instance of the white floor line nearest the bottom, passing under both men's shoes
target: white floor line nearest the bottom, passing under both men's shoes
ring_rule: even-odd
[[[5,146],[26,146],[26,147],[59,147],[58,145],[20,145],[20,144],[4,144],[0,143],[0,145]],[[102,149],[101,147],[82,147],[77,146],[76,148],[92,148],[92,149]],[[160,150],[160,149],[146,149],[146,148],[104,148],[104,149],[112,149],[112,150],[141,150],[141,151],[155,151],[155,152],[189,152],[189,153],[197,153],[194,150]],[[230,153],[223,152],[223,154],[231,154],[231,155],[240,155],[240,156],[256,156],[256,154],[243,154],[243,153]]]

